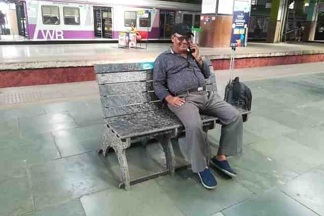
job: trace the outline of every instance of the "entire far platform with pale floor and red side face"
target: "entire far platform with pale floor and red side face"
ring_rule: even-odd
[[[151,62],[170,44],[126,50],[117,44],[16,45],[0,47],[0,88],[95,80],[96,63]],[[228,69],[230,49],[201,48],[215,70]],[[324,44],[249,42],[236,51],[236,68],[324,61]]]

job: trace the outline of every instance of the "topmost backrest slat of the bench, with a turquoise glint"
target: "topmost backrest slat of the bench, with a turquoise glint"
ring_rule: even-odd
[[[153,66],[154,66],[154,62],[96,64],[95,71],[96,73],[108,73],[108,72],[152,70]]]

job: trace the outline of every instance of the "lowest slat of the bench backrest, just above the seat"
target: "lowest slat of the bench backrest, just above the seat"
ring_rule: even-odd
[[[128,106],[120,106],[120,107],[110,107],[103,108],[103,114],[105,118],[119,116],[119,115],[127,115],[132,113],[146,112],[151,110],[161,109],[160,102],[152,102],[152,103],[142,103],[142,104],[133,104]]]

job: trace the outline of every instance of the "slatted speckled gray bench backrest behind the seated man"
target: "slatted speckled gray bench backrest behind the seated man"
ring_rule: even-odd
[[[217,92],[213,66],[207,91]],[[161,109],[153,89],[153,62],[97,64],[95,72],[105,118]]]

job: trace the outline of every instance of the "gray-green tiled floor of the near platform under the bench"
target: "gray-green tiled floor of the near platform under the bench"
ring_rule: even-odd
[[[244,154],[229,158],[238,176],[213,169],[215,190],[190,169],[117,189],[115,154],[96,153],[103,123],[95,82],[0,89],[0,97],[57,94],[0,104],[0,215],[324,216],[324,63],[298,66],[235,70],[252,90],[252,115]],[[227,71],[217,74],[222,90]],[[220,127],[208,134],[213,152],[219,135]],[[174,149],[177,164],[187,163],[186,147]],[[157,143],[127,155],[131,178],[166,167]]]

